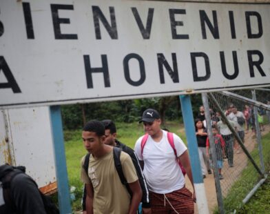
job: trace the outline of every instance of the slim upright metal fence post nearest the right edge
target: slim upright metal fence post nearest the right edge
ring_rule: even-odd
[[[252,99],[256,101],[256,92],[255,90],[251,90],[252,93]],[[264,168],[264,162],[263,162],[263,155],[262,155],[262,136],[260,135],[260,124],[258,122],[258,108],[256,106],[253,106],[254,110],[254,119],[255,119],[255,126],[256,126],[256,138],[258,143],[258,150],[260,155],[260,166],[262,168],[262,173],[265,172]]]

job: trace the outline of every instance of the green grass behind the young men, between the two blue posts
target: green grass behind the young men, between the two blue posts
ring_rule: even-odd
[[[180,125],[178,121],[168,121],[166,126],[169,131],[176,133],[186,143],[185,131],[183,125]],[[126,144],[127,146],[134,148],[138,137],[143,135],[143,125],[138,123],[125,124],[116,123],[117,139]],[[81,197],[83,191],[83,183],[80,180],[80,168],[81,158],[87,152],[83,147],[81,140],[81,130],[65,131],[65,157],[67,162],[67,174],[70,186],[75,186],[76,200],[72,202],[72,210],[81,210]]]

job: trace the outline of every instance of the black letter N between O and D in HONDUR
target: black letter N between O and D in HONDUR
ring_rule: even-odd
[[[174,83],[179,82],[176,53],[174,52],[172,53],[172,63],[174,66],[174,70],[172,70],[171,66],[169,66],[164,55],[158,54],[158,70],[159,70],[160,84],[165,84],[163,66],[166,68],[167,72],[169,73],[169,76],[172,78],[172,81],[174,81]]]

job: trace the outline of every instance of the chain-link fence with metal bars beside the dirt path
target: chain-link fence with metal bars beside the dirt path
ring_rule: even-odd
[[[212,165],[216,167],[217,212],[233,213],[249,200],[266,174],[264,164],[269,163],[270,136],[265,141],[261,138],[270,133],[270,89],[209,93],[205,96],[205,116],[207,124],[211,124],[211,127],[207,126],[207,132],[213,135],[209,137],[211,159],[214,157],[216,160],[213,159]],[[224,147],[215,129],[224,140]]]

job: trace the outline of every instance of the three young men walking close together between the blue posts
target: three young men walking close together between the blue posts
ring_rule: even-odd
[[[81,180],[85,184],[85,213],[194,213],[195,193],[185,187],[185,174],[193,185],[187,147],[174,133],[160,128],[158,112],[144,111],[141,120],[145,135],[134,150],[116,139],[113,121],[87,122],[82,138],[90,154],[81,160]],[[121,148],[120,164],[127,185],[116,170],[115,147]]]

